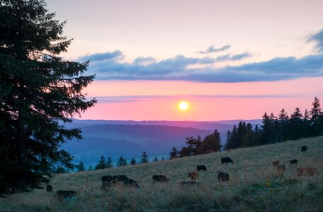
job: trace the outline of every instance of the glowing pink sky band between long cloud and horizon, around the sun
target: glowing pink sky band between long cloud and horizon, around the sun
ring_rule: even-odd
[[[310,110],[314,97],[323,96],[322,84],[322,77],[254,83],[96,81],[88,92],[98,97],[98,105],[81,119],[261,119],[263,112],[278,114],[283,107],[288,114],[295,107]],[[189,103],[187,111],[179,110],[181,101]]]

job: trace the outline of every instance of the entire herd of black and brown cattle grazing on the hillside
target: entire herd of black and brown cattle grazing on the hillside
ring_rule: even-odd
[[[302,152],[307,151],[307,146],[302,146],[301,148]],[[229,157],[221,158],[222,164],[232,163],[233,160]],[[290,160],[290,165],[297,165],[297,160]],[[273,161],[273,166],[276,167],[276,170],[279,175],[283,175],[283,172],[285,172],[286,167],[285,165],[280,165],[280,161],[276,160]],[[188,172],[188,177],[191,177],[192,180],[195,181],[182,181],[180,182],[181,187],[191,187],[191,186],[199,186],[200,183],[197,182],[198,179],[198,172],[200,171],[207,171],[207,167],[205,165],[197,165],[196,170],[193,172]],[[297,176],[314,176],[318,175],[319,172],[314,167],[298,167],[297,168]],[[123,187],[135,187],[139,188],[140,186],[137,184],[137,182],[134,179],[129,179],[126,175],[106,175],[101,177],[102,180],[102,186],[101,190],[107,191],[108,188],[114,187],[115,185],[121,185]],[[169,182],[169,178],[164,175],[153,175],[152,176],[152,183],[155,184],[156,182]],[[218,182],[227,182],[229,181],[229,174],[226,172],[218,172],[217,175],[217,181]],[[46,186],[46,192],[52,192],[52,186],[47,184]],[[58,190],[57,193],[54,195],[55,198],[62,201],[62,199],[69,199],[73,198],[77,195],[76,191],[73,190]]]

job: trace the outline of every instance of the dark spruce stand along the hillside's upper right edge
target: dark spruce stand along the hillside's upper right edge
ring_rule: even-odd
[[[312,109],[305,110],[304,113],[300,112],[299,107],[290,116],[284,109],[280,110],[278,116],[265,112],[260,127],[239,122],[233,126],[232,131],[227,131],[225,150],[320,135],[323,135],[323,113],[319,99],[315,97]]]

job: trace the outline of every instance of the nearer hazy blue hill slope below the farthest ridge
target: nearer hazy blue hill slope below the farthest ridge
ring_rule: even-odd
[[[74,155],[74,163],[83,161],[86,165],[98,163],[101,155],[111,156],[117,161],[140,158],[146,151],[150,158],[169,155],[171,148],[181,148],[189,136],[204,137],[212,131],[191,127],[159,125],[94,124],[82,126],[81,141],[68,141],[62,148]]]

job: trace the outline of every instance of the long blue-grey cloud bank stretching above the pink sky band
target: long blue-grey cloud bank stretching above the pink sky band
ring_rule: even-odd
[[[118,54],[115,54],[118,52]],[[306,57],[277,57],[268,61],[239,66],[215,67],[219,60],[237,60],[249,53],[211,57],[185,57],[178,55],[157,61],[152,57],[137,57],[132,62],[120,60],[122,52],[89,55],[89,73],[99,80],[171,80],[200,82],[280,81],[285,79],[323,76],[323,54]],[[98,57],[100,55],[100,57]],[[101,55],[115,55],[108,59]]]

